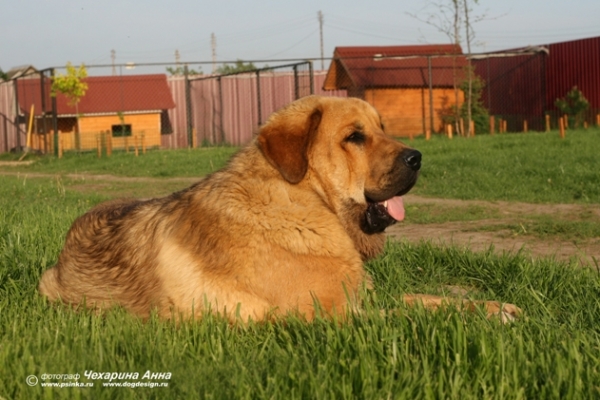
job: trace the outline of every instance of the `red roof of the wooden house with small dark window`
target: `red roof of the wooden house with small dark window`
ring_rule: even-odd
[[[78,104],[80,114],[110,114],[116,112],[160,111],[175,107],[164,74],[132,76],[92,76],[84,80],[88,90]],[[29,112],[35,106],[35,114],[42,110],[39,79],[22,79],[18,83],[18,99],[21,112]],[[50,81],[44,82],[45,110],[52,110]],[[56,96],[58,115],[75,115],[75,107],[67,104],[67,98]]]

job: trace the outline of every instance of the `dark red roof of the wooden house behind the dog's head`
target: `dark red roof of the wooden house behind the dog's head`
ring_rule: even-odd
[[[433,87],[452,87],[454,71],[463,76],[467,63],[459,45],[336,47],[324,88],[427,87],[426,56],[434,56],[431,57]]]

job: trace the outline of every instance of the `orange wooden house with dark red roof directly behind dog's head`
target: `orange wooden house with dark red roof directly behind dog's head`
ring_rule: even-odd
[[[458,45],[336,47],[323,89],[369,102],[390,135],[440,132],[443,117],[463,102],[454,86],[465,66]]]

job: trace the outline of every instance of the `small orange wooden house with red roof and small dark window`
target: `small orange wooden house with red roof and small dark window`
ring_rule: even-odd
[[[64,150],[91,150],[99,138],[110,135],[113,148],[133,146],[144,138],[146,147],[158,147],[160,135],[170,126],[167,110],[175,107],[164,74],[132,76],[92,76],[85,80],[88,89],[77,107],[58,93],[56,113],[60,143]],[[22,115],[34,107],[37,133],[50,132],[52,99],[49,79],[44,83],[45,113],[42,112],[40,80],[18,82],[18,100]],[[46,115],[44,119],[43,115]],[[77,118],[79,117],[79,118]],[[79,119],[79,121],[78,121]]]

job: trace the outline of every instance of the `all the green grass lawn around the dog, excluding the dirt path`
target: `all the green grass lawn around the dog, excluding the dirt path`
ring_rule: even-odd
[[[411,145],[423,152],[424,167],[415,192],[599,204],[600,131],[569,131],[564,141],[557,136],[416,139]],[[365,314],[347,323],[289,318],[242,327],[217,317],[179,324],[141,321],[122,310],[99,316],[50,307],[37,294],[41,273],[56,262],[77,215],[122,193],[152,196],[185,187],[190,180],[183,177],[210,173],[234,150],[153,151],[100,160],[73,154],[0,167],[10,173],[0,175],[1,398],[600,397],[600,270],[521,253],[389,241],[386,252],[367,265],[375,291],[365,295]],[[69,176],[74,173],[85,176]],[[155,179],[144,181],[147,177]],[[441,218],[437,211],[429,210],[432,220]],[[462,218],[482,213],[474,207]],[[597,235],[595,229],[586,235]],[[467,288],[475,299],[515,303],[525,316],[501,325],[481,313],[427,312],[399,301],[406,292],[444,293],[451,286]],[[380,309],[388,313],[382,316]],[[147,371],[156,376],[143,378]],[[111,380],[107,373],[121,377]],[[139,379],[124,379],[135,373]],[[43,380],[44,374],[79,374],[80,383],[94,386],[42,387],[74,382]],[[27,384],[32,375],[39,381],[34,386]],[[128,381],[168,387],[110,386]]]

